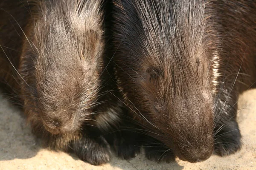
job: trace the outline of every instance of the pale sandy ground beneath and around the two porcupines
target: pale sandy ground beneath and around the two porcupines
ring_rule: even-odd
[[[74,155],[42,148],[20,111],[0,95],[0,170],[256,170],[256,90],[240,97],[239,108],[243,147],[234,155],[213,155],[196,164],[157,164],[140,154],[129,161],[114,157],[109,164],[92,166]]]

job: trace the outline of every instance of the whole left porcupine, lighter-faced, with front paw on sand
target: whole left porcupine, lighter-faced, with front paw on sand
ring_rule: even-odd
[[[0,80],[48,147],[98,165],[118,125],[102,0],[0,3]],[[112,92],[114,93],[114,92]],[[113,97],[112,97],[113,96]]]

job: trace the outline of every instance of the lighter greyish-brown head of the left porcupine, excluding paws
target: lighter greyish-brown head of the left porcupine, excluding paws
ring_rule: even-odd
[[[29,41],[23,45],[24,108],[52,134],[74,133],[82,124],[94,123],[102,33],[76,23],[73,15],[48,11],[29,26]]]

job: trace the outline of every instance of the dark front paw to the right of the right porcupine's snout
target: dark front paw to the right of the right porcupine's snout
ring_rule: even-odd
[[[224,125],[215,135],[215,153],[227,156],[236,153],[241,148],[241,133],[236,122]]]

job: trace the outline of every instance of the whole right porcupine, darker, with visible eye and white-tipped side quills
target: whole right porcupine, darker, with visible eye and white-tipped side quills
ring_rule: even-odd
[[[236,103],[255,82],[255,18],[253,0],[113,0],[117,84],[155,138],[149,159],[239,150]]]

